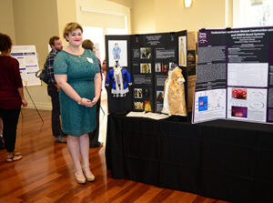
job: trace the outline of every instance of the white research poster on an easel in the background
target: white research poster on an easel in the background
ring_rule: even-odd
[[[35,76],[39,70],[35,46],[12,46],[11,56],[19,62],[24,86],[41,85],[41,80]]]

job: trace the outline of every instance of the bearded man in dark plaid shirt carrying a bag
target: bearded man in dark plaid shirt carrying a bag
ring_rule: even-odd
[[[60,105],[58,92],[60,86],[56,84],[54,77],[54,60],[59,51],[63,50],[62,40],[58,36],[52,36],[49,39],[49,46],[52,48],[45,60],[45,69],[48,76],[47,94],[51,96],[52,112],[51,112],[51,127],[52,134],[56,142],[66,143],[66,137],[62,132],[60,121]]]

